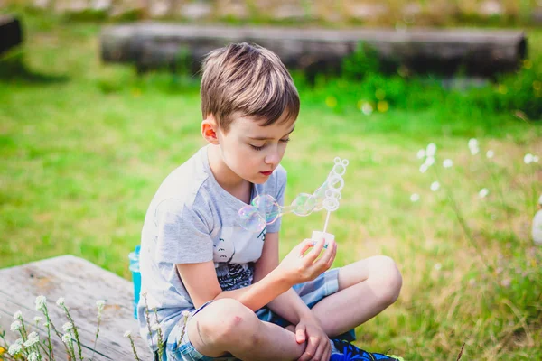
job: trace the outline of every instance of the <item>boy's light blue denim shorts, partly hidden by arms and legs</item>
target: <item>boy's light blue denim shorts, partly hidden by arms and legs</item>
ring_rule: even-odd
[[[299,294],[304,303],[312,309],[313,306],[322,301],[323,298],[333,294],[339,290],[339,269],[334,268],[332,270],[326,271],[318,276],[313,281],[299,283],[294,285],[294,291]],[[210,302],[204,303],[198,310],[192,311],[192,314],[189,317],[189,320],[193,315],[198,313],[204,307],[206,307]],[[290,324],[287,320],[278,316],[272,310],[264,307],[256,311],[258,319],[261,319],[265,322],[275,323],[278,326],[286,327]],[[212,361],[212,360],[222,360],[222,361],[233,361],[237,358],[231,355],[225,355],[221,357],[209,357],[201,355],[198,350],[196,350],[192,342],[188,339],[188,332],[184,332],[182,335],[182,326],[177,325],[172,329],[172,332],[167,338],[167,345],[165,347],[165,356],[167,360],[175,361]],[[353,341],[356,339],[354,330],[350,329],[349,332],[341,335],[338,338],[346,339],[348,341]]]

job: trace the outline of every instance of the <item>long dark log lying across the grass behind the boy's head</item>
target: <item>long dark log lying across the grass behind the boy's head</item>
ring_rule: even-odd
[[[467,75],[487,77],[518,69],[527,55],[526,36],[521,31],[138,23],[107,27],[100,38],[102,60],[133,63],[140,70],[174,67],[183,62],[196,70],[205,54],[229,42],[256,42],[275,51],[288,68],[315,72],[339,69],[360,42],[372,47],[380,60],[400,63],[415,72],[454,74],[461,70]]]

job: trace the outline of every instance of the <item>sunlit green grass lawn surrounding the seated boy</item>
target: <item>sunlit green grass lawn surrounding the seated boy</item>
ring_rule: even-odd
[[[0,63],[0,267],[72,254],[129,279],[127,254],[154,191],[203,145],[197,79],[100,63],[98,25],[24,21],[25,51]],[[463,342],[464,360],[542,357],[542,256],[529,237],[542,170],[522,162],[542,155],[540,116],[528,107],[542,101],[529,93],[542,80],[542,32],[528,35],[533,65],[500,79],[522,79],[506,97],[498,84],[463,94],[378,74],[315,88],[297,77],[303,106],[283,161],[286,201],[314,190],[334,156],[350,159],[330,223],[335,265],[389,255],[404,277],[397,303],[357,330],[360,346],[406,360],[455,360]],[[363,115],[358,101],[376,106],[378,88],[388,111]],[[494,162],[470,155],[473,136]],[[416,152],[430,142],[452,169],[418,171]],[[443,189],[432,193],[436,169]],[[281,255],[323,218],[285,216]]]

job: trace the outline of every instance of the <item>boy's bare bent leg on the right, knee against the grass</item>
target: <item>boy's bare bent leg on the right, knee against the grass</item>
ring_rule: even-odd
[[[373,318],[397,300],[402,285],[397,265],[379,255],[341,267],[339,291],[313,307],[332,338]]]

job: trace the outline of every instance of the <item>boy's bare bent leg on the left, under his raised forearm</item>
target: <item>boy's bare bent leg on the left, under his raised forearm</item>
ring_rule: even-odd
[[[293,332],[262,322],[232,299],[214,301],[198,312],[187,332],[192,345],[211,357],[229,352],[242,360],[295,360],[305,348],[295,341]]]

